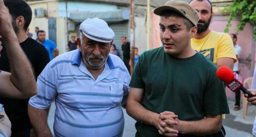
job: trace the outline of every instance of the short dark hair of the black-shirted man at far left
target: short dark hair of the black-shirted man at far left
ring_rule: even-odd
[[[32,19],[32,10],[27,2],[25,0],[4,0],[4,2],[13,20],[16,20],[18,16],[23,16],[25,20],[23,29],[27,31]]]

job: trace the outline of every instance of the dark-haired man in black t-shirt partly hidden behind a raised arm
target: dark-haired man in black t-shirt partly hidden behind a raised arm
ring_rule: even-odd
[[[24,0],[4,0],[12,16],[12,25],[17,35],[21,48],[30,60],[35,79],[50,61],[46,48],[26,35],[27,27],[32,18],[30,6]],[[6,47],[3,45],[0,58],[0,69],[10,71]],[[30,90],[29,88],[27,90]],[[5,111],[11,121],[11,137],[30,137],[30,119],[27,113],[28,99],[0,98],[0,103],[5,106]]]

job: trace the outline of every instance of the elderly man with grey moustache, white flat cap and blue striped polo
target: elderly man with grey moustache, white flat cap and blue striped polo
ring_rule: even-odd
[[[29,115],[38,137],[50,137],[46,108],[55,99],[57,137],[119,137],[130,75],[122,60],[109,54],[114,32],[101,19],[80,24],[79,49],[53,59],[39,75],[38,94]]]

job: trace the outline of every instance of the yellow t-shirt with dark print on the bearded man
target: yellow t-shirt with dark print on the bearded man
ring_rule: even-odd
[[[212,60],[214,64],[217,64],[217,59],[220,57],[230,57],[236,62],[233,41],[227,33],[210,31],[200,40],[192,38],[191,46],[192,49]]]

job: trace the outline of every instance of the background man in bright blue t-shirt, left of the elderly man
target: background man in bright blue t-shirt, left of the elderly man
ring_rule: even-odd
[[[37,42],[42,44],[47,49],[50,60],[53,60],[53,51],[55,53],[54,57],[57,57],[59,55],[59,49],[57,48],[56,44],[52,40],[46,39],[45,31],[37,31]]]

